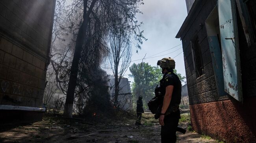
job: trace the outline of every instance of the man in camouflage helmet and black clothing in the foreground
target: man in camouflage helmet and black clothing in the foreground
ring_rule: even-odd
[[[180,119],[181,82],[173,72],[175,62],[172,58],[158,60],[157,65],[162,68],[163,78],[160,80],[160,86],[165,89],[159,117],[161,143],[175,143],[177,138],[176,128]]]

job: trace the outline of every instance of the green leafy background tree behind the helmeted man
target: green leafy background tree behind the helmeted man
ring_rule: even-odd
[[[137,97],[143,96],[144,107],[147,108],[147,101],[154,97],[154,89],[156,85],[159,85],[159,81],[163,77],[162,69],[160,67],[148,65],[148,63],[134,63],[130,67],[129,76],[134,78],[132,83],[132,92],[135,93]],[[181,81],[184,81],[186,77],[181,76],[180,73],[177,73],[174,69],[174,73],[180,78]]]

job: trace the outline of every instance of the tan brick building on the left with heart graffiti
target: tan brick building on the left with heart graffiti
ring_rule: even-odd
[[[42,118],[55,0],[0,1],[0,120]]]

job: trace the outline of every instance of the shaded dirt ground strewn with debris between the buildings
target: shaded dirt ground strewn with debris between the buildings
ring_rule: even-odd
[[[0,143],[160,143],[161,126],[152,114],[143,114],[143,126],[134,119],[82,120],[44,116],[42,121],[0,132]],[[179,127],[187,129],[188,121]],[[196,132],[177,132],[178,143],[215,143]]]

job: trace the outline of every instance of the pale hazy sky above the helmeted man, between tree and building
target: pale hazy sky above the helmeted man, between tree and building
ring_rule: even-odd
[[[151,66],[156,66],[157,61],[162,58],[175,57],[175,69],[182,76],[186,76],[182,42],[175,38],[187,16],[185,0],[144,0],[143,2],[144,5],[139,6],[139,10],[143,14],[137,14],[136,18],[138,22],[143,22],[141,30],[144,30],[144,36],[148,40],[143,41],[138,53],[136,53],[136,47],[133,46],[131,65],[142,62],[139,59],[143,59],[145,54],[143,62],[149,63]],[[113,74],[108,67],[104,67],[104,70],[108,74]],[[129,78],[128,74],[130,74],[129,69],[124,77],[133,82],[134,80]],[[184,85],[184,83],[182,84]]]

